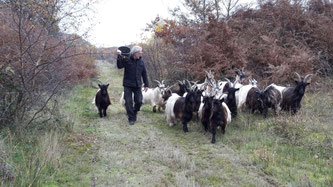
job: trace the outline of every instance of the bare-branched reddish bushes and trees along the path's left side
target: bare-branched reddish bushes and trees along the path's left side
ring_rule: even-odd
[[[75,31],[89,3],[0,1],[0,127],[27,128],[52,119],[55,95],[96,75],[94,48],[61,32]]]

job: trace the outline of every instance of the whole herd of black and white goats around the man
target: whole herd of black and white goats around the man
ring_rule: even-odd
[[[264,89],[257,86],[255,79],[249,78],[249,84],[243,85],[245,71],[237,69],[234,82],[229,79],[216,81],[212,72],[206,71],[206,79],[203,83],[190,82],[188,80],[178,81],[179,88],[166,87],[164,81],[157,81],[156,88],[142,91],[143,104],[149,104],[156,112],[165,109],[165,118],[170,126],[177,121],[183,124],[184,132],[188,132],[187,123],[193,115],[197,115],[203,124],[205,131],[212,133],[212,143],[215,143],[215,135],[218,127],[225,133],[227,123],[237,116],[237,110],[247,109],[252,113],[259,111],[264,117],[271,108],[275,115],[281,110],[290,111],[295,114],[301,107],[301,100],[307,82],[311,74],[304,79],[295,72],[298,80],[295,87],[283,87],[271,84]],[[106,109],[111,104],[107,93],[109,84],[99,84],[100,90],[96,93],[95,104],[100,117],[106,116]],[[125,100],[120,98],[120,103]]]

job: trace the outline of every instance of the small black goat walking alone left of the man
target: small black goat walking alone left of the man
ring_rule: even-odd
[[[111,104],[108,94],[109,84],[98,84],[98,86],[100,90],[96,93],[95,104],[98,108],[98,114],[102,118],[103,116],[106,116],[106,110]]]

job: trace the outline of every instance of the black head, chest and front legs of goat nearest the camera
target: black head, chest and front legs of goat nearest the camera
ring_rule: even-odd
[[[212,110],[209,118],[209,130],[212,133],[212,143],[215,143],[215,135],[217,127],[220,126],[222,134],[225,133],[225,127],[227,126],[228,113],[226,108],[222,106],[223,99],[214,99],[212,102]]]

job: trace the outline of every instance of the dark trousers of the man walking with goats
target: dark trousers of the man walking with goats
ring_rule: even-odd
[[[133,107],[133,98],[134,94],[134,107]],[[125,87],[124,86],[124,99],[125,107],[128,116],[128,121],[136,121],[136,113],[140,111],[142,105],[142,92],[141,88]]]

